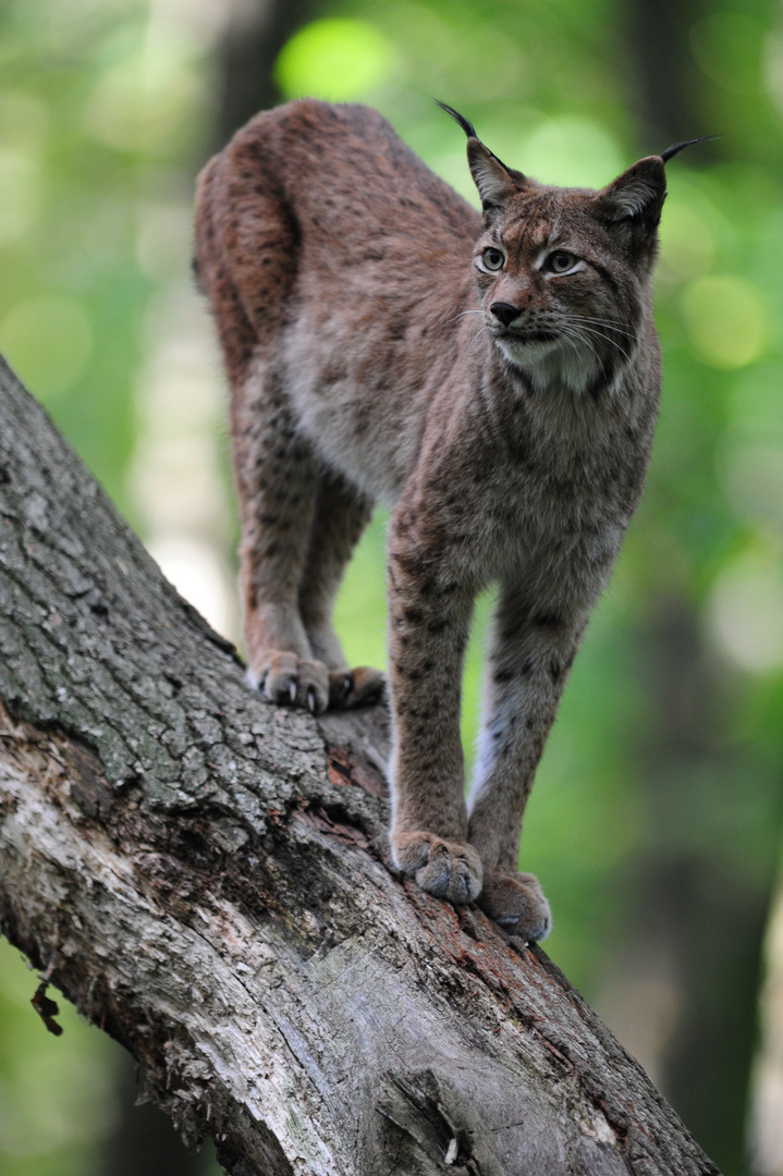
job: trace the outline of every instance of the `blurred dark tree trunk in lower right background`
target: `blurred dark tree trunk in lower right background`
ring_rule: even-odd
[[[697,814],[708,803],[703,781],[717,788],[731,771],[741,787],[757,769],[738,754],[725,762],[721,682],[689,602],[657,602],[638,663],[655,735],[637,753],[648,850],[630,916],[627,1000],[641,1017],[661,1020],[652,1073],[667,1097],[721,1167],[740,1171],[767,894],[737,883],[723,847],[700,837]]]

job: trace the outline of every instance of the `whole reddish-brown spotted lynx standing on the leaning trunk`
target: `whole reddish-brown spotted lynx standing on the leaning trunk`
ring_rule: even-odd
[[[250,681],[315,714],[379,695],[330,616],[374,505],[392,507],[393,858],[531,941],[550,913],[517,871],[522,814],[642,490],[664,162],[687,145],[600,192],[549,187],[443,108],[483,215],[374,111],[302,100],[203,169],[195,267],[232,389]],[[462,656],[490,583],[468,814]]]

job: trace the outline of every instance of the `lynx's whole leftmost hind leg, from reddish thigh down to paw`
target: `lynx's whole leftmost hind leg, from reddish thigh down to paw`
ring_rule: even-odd
[[[315,463],[276,365],[296,242],[260,166],[261,131],[247,127],[201,173],[195,262],[232,387],[248,677],[269,701],[319,713],[329,702],[329,673],[313,655],[297,603]]]

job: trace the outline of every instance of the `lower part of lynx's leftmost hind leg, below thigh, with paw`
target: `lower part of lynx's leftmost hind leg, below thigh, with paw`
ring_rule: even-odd
[[[260,360],[235,392],[232,429],[249,677],[269,701],[320,714],[329,702],[329,675],[299,612],[315,461],[279,380]]]

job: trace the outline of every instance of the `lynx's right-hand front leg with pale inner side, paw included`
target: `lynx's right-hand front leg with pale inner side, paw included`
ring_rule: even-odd
[[[469,836],[484,867],[480,904],[527,940],[548,935],[551,916],[534,875],[517,873],[522,814],[582,627],[510,593],[495,617]]]

